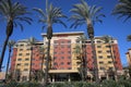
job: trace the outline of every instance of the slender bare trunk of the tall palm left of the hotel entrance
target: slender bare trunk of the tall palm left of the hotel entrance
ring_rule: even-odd
[[[48,72],[49,72],[49,58],[50,58],[50,39],[48,39],[48,48],[47,48],[47,58],[46,58],[46,70],[45,70],[45,80],[44,87],[47,86],[48,83]]]

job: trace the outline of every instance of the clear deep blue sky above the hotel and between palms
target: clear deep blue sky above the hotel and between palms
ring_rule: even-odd
[[[13,0],[21,2],[22,4],[26,5],[28,10],[32,11],[33,8],[40,8],[45,10],[45,2],[46,0]],[[95,29],[95,36],[103,36],[103,35],[110,35],[118,39],[119,50],[120,50],[120,58],[122,64],[127,64],[126,59],[126,52],[131,47],[131,42],[127,41],[127,36],[131,34],[131,25],[130,20],[126,23],[123,23],[123,18],[118,20],[117,16],[111,15],[111,11],[115,8],[115,5],[118,3],[118,0],[85,0],[88,5],[96,4],[97,7],[103,7],[102,13],[106,15],[106,17],[103,18],[103,24],[96,23],[94,25]],[[80,0],[49,0],[49,2],[52,2],[53,5],[60,7],[62,9],[62,12],[70,16],[71,13],[69,12],[70,9],[72,9],[72,4],[79,3]],[[14,28],[13,35],[10,39],[20,40],[25,39],[29,37],[35,37],[38,40],[43,40],[41,33],[45,33],[46,30],[41,30],[41,24],[37,23],[36,13],[33,12],[32,15],[34,22],[32,25],[24,24],[24,30],[21,32],[21,29]],[[63,20],[64,23],[70,26],[71,22],[68,22],[67,20]],[[4,41],[5,38],[5,22],[0,21],[0,48]],[[53,32],[85,32],[86,27],[78,27],[76,29],[73,28],[64,28],[61,25],[55,25]],[[0,49],[1,51],[1,49]],[[1,52],[0,52],[1,53]],[[3,66],[7,63],[8,52],[4,55],[4,63]]]

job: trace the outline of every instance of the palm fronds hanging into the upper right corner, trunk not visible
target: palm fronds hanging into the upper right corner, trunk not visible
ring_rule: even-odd
[[[112,15],[118,15],[118,18],[126,17],[123,22],[131,18],[131,0],[119,0],[112,10]]]

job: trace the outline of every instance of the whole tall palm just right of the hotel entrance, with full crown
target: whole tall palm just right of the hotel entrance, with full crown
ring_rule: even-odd
[[[105,16],[100,13],[102,8],[100,7],[90,7],[84,0],[81,0],[81,3],[74,4],[73,9],[71,9],[71,12],[74,14],[71,15],[69,18],[70,21],[73,21],[73,24],[71,27],[76,28],[78,26],[81,26],[85,24],[87,26],[87,34],[92,42],[92,49],[93,49],[93,59],[94,59],[94,77],[96,79],[96,83],[99,83],[98,78],[98,69],[97,69],[97,58],[95,52],[95,44],[94,44],[94,27],[93,24],[95,22],[103,22],[99,17]]]

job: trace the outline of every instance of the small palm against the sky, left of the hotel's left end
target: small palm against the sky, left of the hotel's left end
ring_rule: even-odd
[[[8,58],[8,63],[7,63],[7,70],[5,70],[5,79],[8,79],[8,71],[9,71],[9,64],[10,64],[10,58],[11,58],[11,52],[12,52],[12,47],[15,45],[14,40],[9,40],[8,47],[9,47],[9,58]]]

